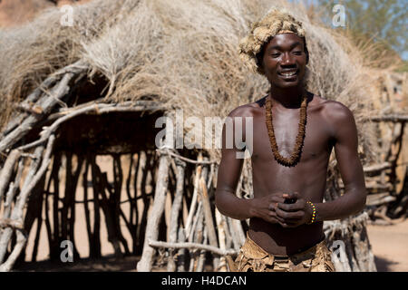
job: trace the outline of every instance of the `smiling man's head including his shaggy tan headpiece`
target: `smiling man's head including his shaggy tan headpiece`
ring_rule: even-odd
[[[250,34],[239,43],[239,48],[239,54],[248,66],[267,76],[274,85],[294,86],[305,77],[309,58],[305,30],[287,12],[271,10],[261,21],[253,24]]]

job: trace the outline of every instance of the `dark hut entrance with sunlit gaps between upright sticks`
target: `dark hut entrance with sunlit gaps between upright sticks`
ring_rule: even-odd
[[[48,169],[27,198],[27,245],[19,262],[141,255],[157,179],[155,135],[160,129],[154,124],[161,115],[96,111],[63,122],[55,131]],[[29,167],[23,169],[29,161],[15,174],[20,181],[29,178]],[[4,233],[1,238],[5,243]],[[15,248],[15,235],[9,239]],[[64,248],[72,253],[63,255]],[[11,253],[2,253],[2,260]]]

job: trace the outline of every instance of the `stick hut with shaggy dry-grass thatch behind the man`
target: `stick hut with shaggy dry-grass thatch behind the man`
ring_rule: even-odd
[[[364,121],[379,93],[373,73],[349,53],[345,37],[338,41],[300,5],[273,4],[287,6],[309,32],[309,90],[354,111],[366,172],[388,169],[373,161],[374,125]],[[106,230],[114,256],[141,256],[138,271],[226,271],[224,256],[238,253],[248,221],[214,207],[220,152],[194,148],[195,141],[178,150],[158,146],[155,125],[180,109],[185,118],[223,118],[267,92],[266,80],[238,62],[237,45],[270,5],[93,0],[74,7],[72,27],[50,9],[30,24],[0,30],[0,270],[35,261],[45,228],[55,261],[65,240],[73,242],[74,258],[79,243],[101,257]],[[110,169],[102,167],[103,156]],[[251,180],[246,160],[238,197],[253,197]],[[332,159],[325,199],[341,190]],[[334,254],[338,271],[375,270],[368,218],[364,211],[325,223],[329,245],[345,245]],[[86,241],[75,239],[79,220]],[[24,251],[29,235],[31,257]]]

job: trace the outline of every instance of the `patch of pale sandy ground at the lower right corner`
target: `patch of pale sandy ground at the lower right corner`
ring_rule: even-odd
[[[367,227],[379,272],[408,272],[408,219],[393,226]]]

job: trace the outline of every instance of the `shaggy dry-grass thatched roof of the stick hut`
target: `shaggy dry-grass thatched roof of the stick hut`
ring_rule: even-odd
[[[154,100],[191,115],[228,115],[267,92],[264,77],[238,58],[238,42],[271,5],[303,22],[310,52],[309,90],[343,102],[359,126],[376,76],[335,30],[311,21],[301,5],[265,0],[93,0],[74,6],[73,27],[53,8],[32,23],[0,30],[0,129],[14,105],[57,69],[77,60],[102,74],[106,102]],[[365,146],[369,135],[362,131]],[[217,155],[217,154],[216,154]]]

